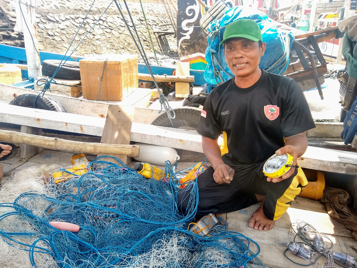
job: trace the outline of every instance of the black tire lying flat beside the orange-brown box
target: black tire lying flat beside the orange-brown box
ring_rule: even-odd
[[[44,60],[42,61],[42,74],[52,77],[57,67],[60,65],[60,60]],[[78,61],[66,61],[59,69],[54,79],[81,80]]]

